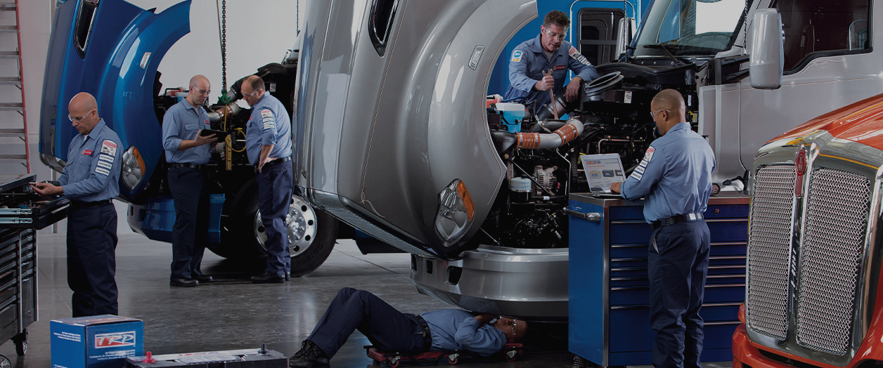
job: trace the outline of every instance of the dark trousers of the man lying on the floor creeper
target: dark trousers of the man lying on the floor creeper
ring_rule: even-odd
[[[429,348],[424,349],[423,325],[417,316],[398,312],[374,294],[352,288],[337,291],[306,340],[334,357],[357,329],[381,351],[419,354]]]

